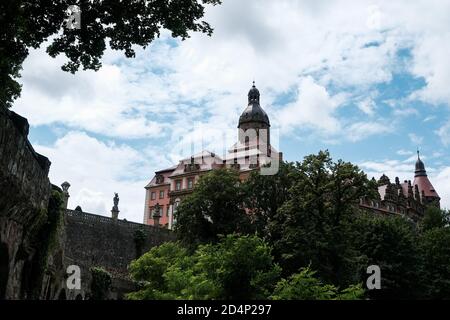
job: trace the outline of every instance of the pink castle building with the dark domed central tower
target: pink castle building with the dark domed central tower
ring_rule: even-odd
[[[223,159],[204,150],[173,167],[156,171],[145,187],[144,224],[172,229],[178,204],[192,192],[199,177],[211,170],[234,168],[245,180],[253,170],[276,170],[282,157],[270,143],[269,116],[260,105],[260,93],[253,82],[247,107],[239,117],[238,141]]]

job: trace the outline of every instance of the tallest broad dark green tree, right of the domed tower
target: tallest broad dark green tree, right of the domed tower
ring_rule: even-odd
[[[281,226],[271,226],[281,228],[274,249],[284,274],[311,265],[327,282],[353,282],[345,232],[360,197],[375,192],[373,183],[357,166],[334,163],[328,151],[305,157],[296,170],[290,199],[277,213]]]

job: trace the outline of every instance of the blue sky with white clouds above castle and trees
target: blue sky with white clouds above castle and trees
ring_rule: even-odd
[[[413,180],[417,148],[450,208],[450,1],[224,0],[212,37],[164,31],[136,58],[107,50],[97,71],[30,51],[13,111],[71,184],[69,208],[143,221],[154,172],[237,136],[252,81],[288,161],[328,149],[371,178]],[[82,16],[81,16],[82,19]]]

